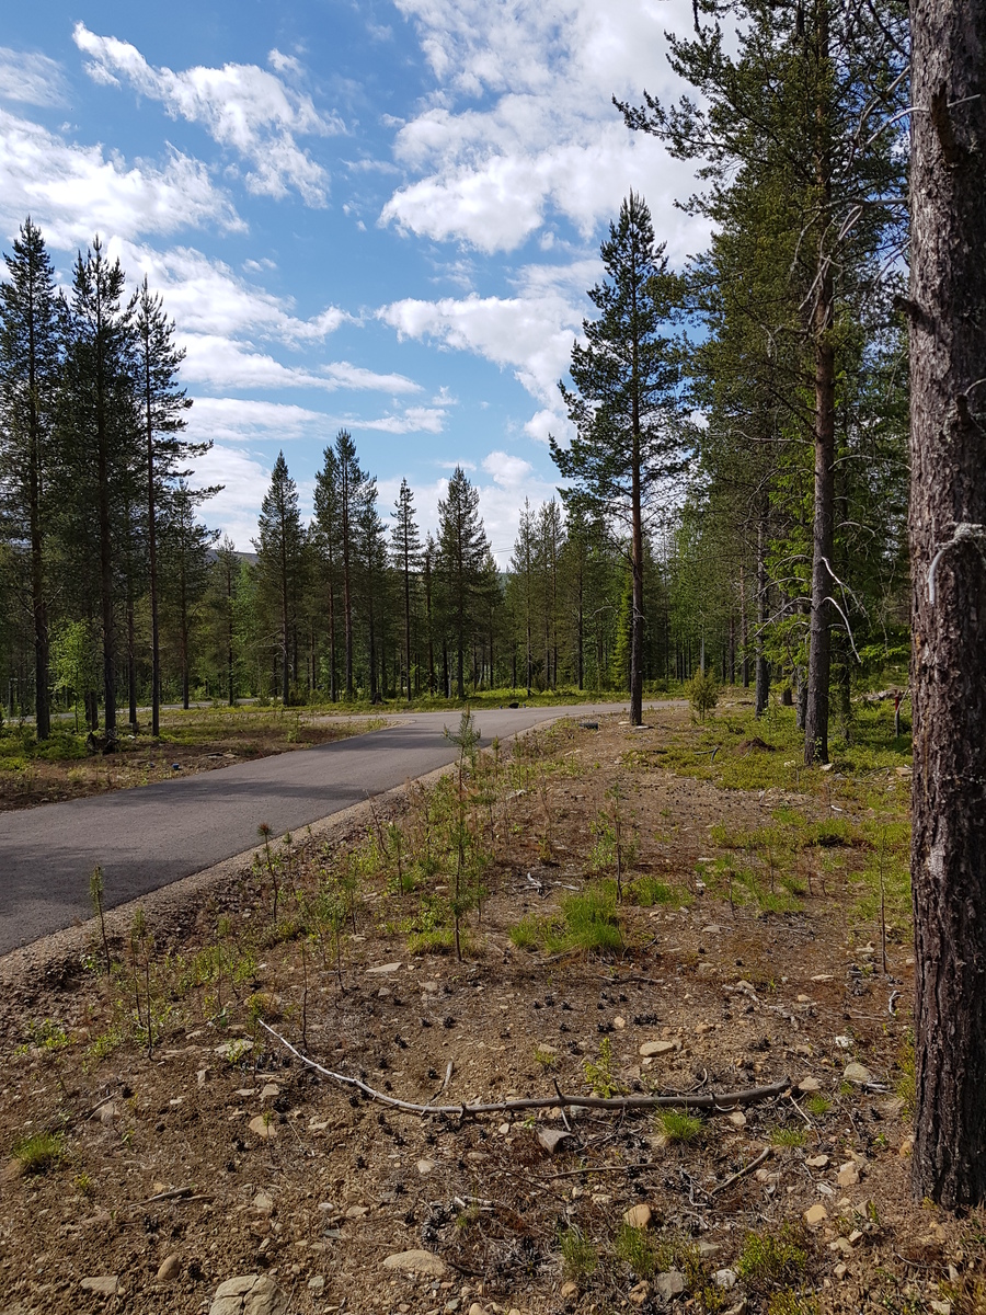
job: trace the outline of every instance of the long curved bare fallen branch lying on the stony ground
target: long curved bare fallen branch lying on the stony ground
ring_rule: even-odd
[[[383,1091],[376,1091],[358,1077],[347,1077],[346,1073],[333,1073],[331,1069],[323,1068],[316,1060],[304,1055],[289,1040],[281,1036],[280,1032],[275,1032],[270,1023],[264,1023],[263,1019],[259,1019],[259,1023],[266,1032],[270,1032],[275,1040],[281,1043],[285,1051],[289,1051],[308,1068],[314,1069],[316,1073],[321,1073],[322,1077],[329,1077],[342,1086],[355,1086],[358,1091],[362,1091],[371,1101],[379,1101],[380,1105],[389,1105],[393,1110],[405,1110],[408,1114],[448,1114],[456,1118],[465,1118],[475,1114],[506,1114],[510,1110],[552,1110],[556,1106],[581,1106],[589,1110],[653,1110],[684,1106],[688,1110],[711,1110],[718,1114],[735,1110],[738,1105],[755,1105],[759,1101],[769,1101],[776,1095],[782,1095],[791,1085],[789,1077],[782,1077],[780,1082],[770,1082],[768,1086],[753,1086],[744,1091],[723,1091],[719,1095],[715,1093],[707,1095],[686,1095],[682,1093],[680,1095],[624,1095],[609,1099],[599,1095],[565,1095],[564,1091],[556,1091],[555,1095],[528,1097],[521,1101],[494,1101],[489,1105],[414,1105],[411,1101],[398,1101],[394,1095],[385,1095]]]

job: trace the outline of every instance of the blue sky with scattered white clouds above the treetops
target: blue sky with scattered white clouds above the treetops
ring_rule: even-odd
[[[557,380],[632,187],[676,263],[686,170],[611,105],[673,80],[690,0],[46,0],[0,34],[0,229],[59,276],[99,233],[187,350],[241,548],[279,448],[310,508],[339,426],[425,527],[460,463],[501,562],[550,497]]]

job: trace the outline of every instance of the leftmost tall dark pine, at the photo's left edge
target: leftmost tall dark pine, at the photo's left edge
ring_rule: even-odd
[[[45,239],[30,218],[21,225],[13,255],[5,260],[9,283],[0,284],[0,517],[12,538],[29,544],[34,722],[43,740],[51,731],[46,548],[63,316]]]

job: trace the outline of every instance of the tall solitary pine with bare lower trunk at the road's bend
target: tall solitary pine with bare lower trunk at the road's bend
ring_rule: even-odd
[[[626,526],[632,572],[630,721],[643,722],[644,519],[657,489],[682,468],[676,391],[680,352],[663,329],[677,312],[681,280],[657,246],[651,212],[635,193],[602,243],[606,281],[589,291],[599,318],[584,321],[586,346],[572,348],[575,391],[560,385],[576,437],[551,441],[563,493],[590,518]]]

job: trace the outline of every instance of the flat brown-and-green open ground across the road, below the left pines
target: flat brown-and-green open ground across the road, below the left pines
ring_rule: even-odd
[[[85,735],[55,727],[38,744],[33,727],[0,732],[0,811],[128,790],[193,776],[271,753],[330,744],[380,726],[380,718],[339,718],[300,709],[204,707],[163,711],[162,734],[121,731],[120,748],[101,753]]]

